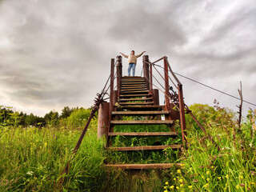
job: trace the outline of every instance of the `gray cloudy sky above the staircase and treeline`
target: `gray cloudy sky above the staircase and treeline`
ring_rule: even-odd
[[[255,0],[2,0],[0,105],[38,115],[89,107],[110,58],[130,50],[151,61],[166,55],[175,72],[235,96],[242,81],[244,99],[256,103],[255,32]],[[141,67],[142,58],[137,75]],[[239,104],[180,80],[188,105]]]

